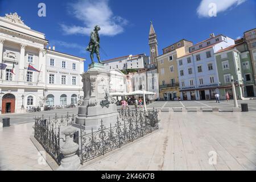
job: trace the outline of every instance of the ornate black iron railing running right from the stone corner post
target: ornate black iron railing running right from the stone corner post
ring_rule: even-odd
[[[106,152],[120,148],[134,140],[158,130],[158,111],[118,110],[115,126],[106,128],[101,121],[98,131],[86,134],[80,130],[81,164]]]

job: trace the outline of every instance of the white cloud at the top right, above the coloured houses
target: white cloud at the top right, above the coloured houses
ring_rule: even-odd
[[[200,17],[209,17],[209,11],[211,8],[209,5],[211,3],[216,4],[216,13],[218,14],[228,10],[230,7],[241,5],[245,1],[247,0],[202,0],[199,7],[197,7],[197,14]]]

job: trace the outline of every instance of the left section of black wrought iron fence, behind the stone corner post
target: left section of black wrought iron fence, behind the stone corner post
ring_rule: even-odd
[[[58,117],[35,118],[35,139],[43,146],[44,150],[52,156],[57,164],[60,165],[62,159],[60,153],[60,129],[61,127],[71,126],[74,122],[74,115]]]

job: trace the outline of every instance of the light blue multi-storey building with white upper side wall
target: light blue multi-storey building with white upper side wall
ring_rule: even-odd
[[[218,93],[219,78],[214,53],[234,45],[228,36],[210,34],[210,38],[189,47],[189,53],[177,58],[181,100],[210,100]]]

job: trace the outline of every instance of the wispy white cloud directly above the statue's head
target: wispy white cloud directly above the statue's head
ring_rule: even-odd
[[[94,26],[101,27],[100,34],[114,36],[123,32],[127,20],[121,16],[114,16],[109,7],[109,0],[79,0],[69,3],[69,13],[81,20],[82,26],[61,24],[64,34],[89,35]]]

